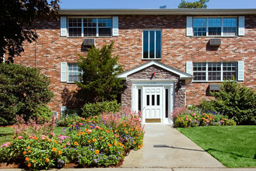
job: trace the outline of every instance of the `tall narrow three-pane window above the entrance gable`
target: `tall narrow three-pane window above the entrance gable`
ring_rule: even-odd
[[[160,59],[161,48],[161,30],[143,30],[143,59]]]

